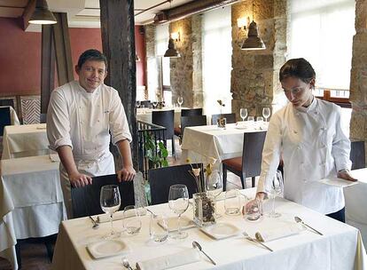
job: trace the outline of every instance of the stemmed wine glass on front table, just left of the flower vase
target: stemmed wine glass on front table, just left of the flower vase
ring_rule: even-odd
[[[178,231],[170,236],[174,239],[184,239],[188,236],[181,231],[181,215],[189,207],[189,191],[184,185],[173,185],[169,187],[168,206],[178,215]]]

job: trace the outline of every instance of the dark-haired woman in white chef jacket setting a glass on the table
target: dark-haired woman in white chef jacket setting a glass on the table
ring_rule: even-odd
[[[340,107],[313,96],[315,79],[307,60],[288,60],[281,67],[279,80],[290,102],[269,122],[256,195],[262,200],[269,192],[282,155],[285,198],[345,222],[342,188],[319,180],[355,181],[349,174],[350,141],[341,130]]]

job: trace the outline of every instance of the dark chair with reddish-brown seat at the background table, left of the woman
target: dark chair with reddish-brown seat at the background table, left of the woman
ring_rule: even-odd
[[[223,160],[223,190],[227,185],[227,170],[241,178],[242,188],[246,188],[246,178],[252,178],[252,187],[255,186],[255,177],[262,169],[262,147],[266,137],[265,131],[244,133],[242,156]]]

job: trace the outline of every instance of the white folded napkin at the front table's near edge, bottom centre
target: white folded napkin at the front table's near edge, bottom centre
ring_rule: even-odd
[[[137,262],[137,270],[163,270],[188,265],[200,260],[199,250],[190,249],[175,254]]]

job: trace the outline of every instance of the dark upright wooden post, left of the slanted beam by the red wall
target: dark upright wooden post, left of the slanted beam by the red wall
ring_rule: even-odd
[[[51,91],[55,86],[55,47],[51,25],[42,27],[41,113],[47,113]]]

